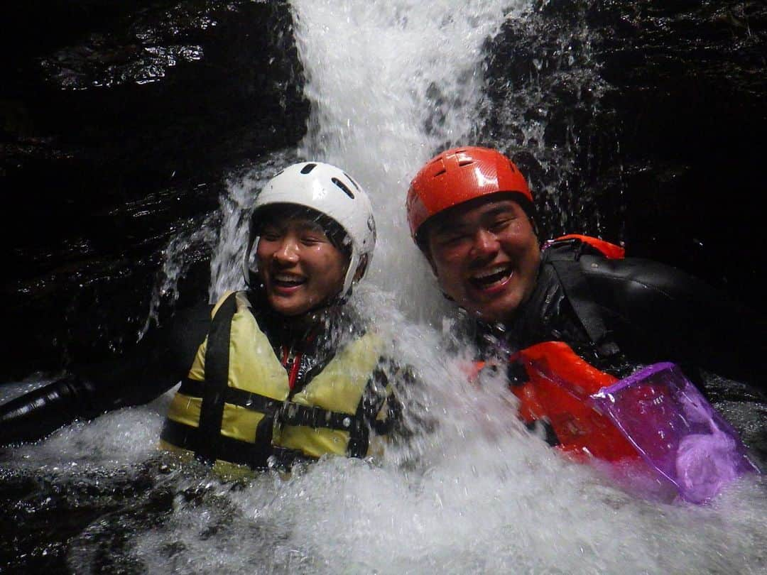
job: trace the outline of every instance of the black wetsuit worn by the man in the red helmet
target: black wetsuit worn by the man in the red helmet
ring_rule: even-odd
[[[564,341],[614,376],[672,361],[764,393],[765,321],[690,274],[640,258],[607,259],[573,239],[545,249],[531,297],[506,324],[479,324],[486,355]]]

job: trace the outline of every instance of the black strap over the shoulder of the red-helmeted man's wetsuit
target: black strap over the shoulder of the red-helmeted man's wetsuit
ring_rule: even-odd
[[[562,288],[565,290],[573,311],[578,316],[584,330],[594,342],[597,352],[602,357],[611,357],[618,353],[617,344],[611,339],[604,324],[598,304],[594,303],[588,280],[581,270],[581,255],[584,251],[601,253],[579,239],[563,239],[551,242],[543,251],[544,263],[551,264],[557,273]]]

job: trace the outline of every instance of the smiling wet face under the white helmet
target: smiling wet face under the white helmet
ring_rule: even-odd
[[[344,285],[347,258],[311,219],[264,225],[255,255],[268,304],[279,314],[304,314]]]

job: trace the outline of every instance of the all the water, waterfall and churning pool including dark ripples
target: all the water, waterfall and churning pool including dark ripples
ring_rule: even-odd
[[[584,177],[574,167],[584,169],[578,114],[599,118],[609,92],[594,32],[585,10],[575,10],[565,31],[550,23],[549,43],[536,44],[545,36],[541,9],[525,0],[294,0],[291,30],[311,106],[306,136],[232,171],[219,209],[179,228],[159,258],[148,317],[173,303],[199,252],[210,254],[213,301],[242,285],[253,192],[296,159],[344,166],[370,192],[379,230],[352,303],[390,337],[390,352],[416,367],[423,388],[406,399],[423,411],[409,416],[430,425],[369,461],[329,458],[289,477],[232,480],[157,451],[170,393],[77,422],[0,455],[0,570],[767,572],[762,478],[747,476],[705,506],[639,497],[528,435],[503,382],[469,385],[461,357],[445,348],[460,318],[412,245],[403,211],[407,182],[436,149],[479,141],[519,153],[548,227],[624,231],[620,194],[605,204],[599,190],[572,193]],[[509,37],[522,47],[517,54],[541,52],[502,64]],[[499,66],[537,79],[499,86],[488,76]],[[552,132],[563,134],[559,146],[545,145]],[[569,219],[552,215],[558,208]],[[48,381],[30,376],[0,399]],[[737,383],[713,387],[716,406],[764,449],[764,404]]]

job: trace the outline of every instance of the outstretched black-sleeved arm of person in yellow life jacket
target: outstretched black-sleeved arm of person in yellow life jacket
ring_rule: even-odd
[[[179,312],[116,360],[75,367],[64,379],[3,404],[0,445],[40,439],[75,419],[156,399],[186,375],[209,320],[209,305]]]

